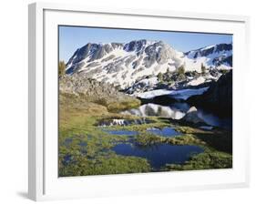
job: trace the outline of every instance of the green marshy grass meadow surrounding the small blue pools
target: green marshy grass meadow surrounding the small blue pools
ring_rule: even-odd
[[[106,127],[137,131],[137,136],[109,134],[97,124],[109,118],[138,119],[119,114],[121,110],[138,107],[138,99],[125,101],[95,100],[83,95],[59,94],[58,174],[59,177],[127,174],[156,171],[146,158],[116,154],[117,144],[139,146],[154,144],[197,145],[204,149],[191,155],[184,164],[166,164],[160,171],[232,168],[230,132],[223,129],[202,130],[189,124],[161,117],[148,117],[148,124]],[[178,137],[164,138],[148,128],[174,128]]]

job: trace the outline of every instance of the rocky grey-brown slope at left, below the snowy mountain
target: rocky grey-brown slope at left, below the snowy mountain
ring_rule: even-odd
[[[107,107],[109,111],[118,112],[123,109],[138,107],[140,101],[136,97],[119,92],[116,87],[98,82],[83,75],[61,76],[59,78],[60,99],[79,98],[79,104],[85,106],[93,102]],[[77,105],[78,106],[78,105]]]

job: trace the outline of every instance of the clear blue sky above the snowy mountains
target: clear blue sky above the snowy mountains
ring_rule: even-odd
[[[59,26],[59,59],[67,62],[77,48],[87,43],[128,43],[139,39],[162,40],[187,52],[203,46],[231,43],[232,35]]]

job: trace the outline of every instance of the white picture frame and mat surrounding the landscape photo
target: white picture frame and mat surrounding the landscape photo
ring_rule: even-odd
[[[86,5],[35,3],[29,13],[29,149],[30,199],[74,199],[125,194],[165,193],[190,189],[226,189],[249,185],[249,132],[245,87],[250,73],[247,16],[211,15],[173,11],[88,8]],[[136,22],[136,24],[134,24]],[[170,26],[170,23],[172,26]],[[57,25],[105,26],[232,33],[233,168],[186,172],[57,177]],[[237,47],[237,48],[236,48]],[[56,69],[55,69],[56,67]],[[238,95],[239,94],[239,95]],[[243,108],[240,108],[243,107]],[[124,185],[125,183],[125,185]]]

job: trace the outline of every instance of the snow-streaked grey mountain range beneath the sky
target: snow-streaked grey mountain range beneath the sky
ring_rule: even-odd
[[[217,80],[222,70],[232,67],[232,44],[205,46],[180,52],[162,41],[134,40],[127,44],[87,43],[76,50],[67,62],[67,75],[79,74],[109,83],[120,89],[159,84],[159,73],[175,73],[180,66],[185,72],[204,75],[187,77],[187,85]],[[212,74],[213,73],[213,74]],[[217,74],[216,74],[217,73]]]

